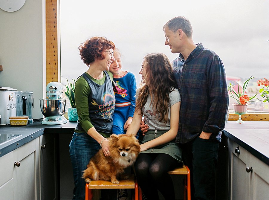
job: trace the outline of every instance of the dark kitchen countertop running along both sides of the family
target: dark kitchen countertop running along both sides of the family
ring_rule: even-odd
[[[69,122],[60,125],[44,125],[41,121],[35,121],[26,126],[0,126],[0,134],[20,134],[4,143],[0,143],[0,157],[38,138],[44,133],[74,133],[77,122]],[[237,123],[228,121],[225,124],[224,135],[238,143],[251,154],[269,165],[269,122],[245,121]]]

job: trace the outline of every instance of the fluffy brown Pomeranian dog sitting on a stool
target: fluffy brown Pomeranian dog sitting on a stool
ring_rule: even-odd
[[[100,149],[83,171],[82,178],[88,183],[91,180],[111,180],[111,183],[119,184],[117,178],[123,174],[124,169],[135,163],[140,152],[140,145],[135,135],[112,134],[108,140],[110,156],[105,156]],[[128,176],[120,178],[126,179]]]

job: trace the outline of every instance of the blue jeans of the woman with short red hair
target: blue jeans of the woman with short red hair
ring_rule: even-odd
[[[87,168],[90,159],[100,149],[100,144],[86,133],[74,133],[69,144],[69,153],[73,167],[74,190],[73,200],[85,200],[85,180],[83,170]]]

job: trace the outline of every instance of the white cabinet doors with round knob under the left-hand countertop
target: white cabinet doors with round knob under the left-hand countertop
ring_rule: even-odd
[[[38,199],[39,139],[0,158],[0,199]],[[2,178],[3,177],[3,178]]]

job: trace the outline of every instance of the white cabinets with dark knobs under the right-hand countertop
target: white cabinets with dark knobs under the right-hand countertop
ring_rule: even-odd
[[[268,199],[269,166],[229,140],[229,199]]]

